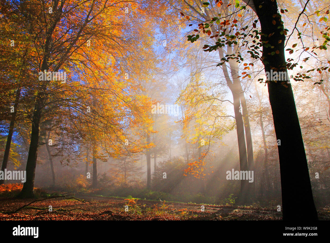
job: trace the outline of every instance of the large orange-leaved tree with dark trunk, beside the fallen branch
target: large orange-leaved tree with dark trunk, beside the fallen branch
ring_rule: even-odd
[[[130,3],[129,6],[131,10],[136,8],[134,3]],[[81,96],[81,94],[78,95],[79,89],[80,92],[85,92],[85,94],[88,94],[90,90],[79,86],[79,82],[74,80],[74,74],[71,79],[67,77],[67,80],[61,80],[61,83],[58,80],[53,80],[47,72],[68,71],[69,74],[73,70],[82,69],[83,67],[89,68],[91,63],[88,63],[88,56],[84,54],[88,52],[88,49],[91,49],[90,43],[93,43],[93,41],[98,44],[93,46],[94,50],[104,50],[110,55],[116,53],[118,56],[115,56],[115,61],[120,61],[120,58],[125,55],[124,50],[126,47],[123,44],[124,38],[120,37],[120,33],[114,31],[114,29],[116,24],[122,23],[122,20],[118,18],[118,13],[123,19],[125,18],[125,2],[75,1],[69,3],[65,1],[42,1],[22,2],[17,4],[16,7],[21,10],[20,18],[21,21],[26,23],[26,31],[32,33],[31,35],[35,39],[34,52],[32,52],[34,56],[31,60],[31,66],[35,70],[34,75],[36,75],[36,83],[33,86],[35,105],[26,165],[27,180],[19,195],[26,198],[33,197],[40,123],[49,99],[53,98],[50,99],[53,100],[52,102],[61,103],[62,105],[65,103],[70,104],[71,97],[63,96],[67,90],[77,91],[78,97]],[[77,16],[80,16],[80,18],[77,18]],[[122,52],[119,50],[122,50]],[[94,70],[98,70],[96,65],[93,65],[93,67]],[[38,80],[38,72],[44,73],[46,79],[41,78],[41,80]],[[39,77],[42,76],[39,74]],[[54,97],[58,99],[54,99]],[[75,109],[80,108],[81,106]]]

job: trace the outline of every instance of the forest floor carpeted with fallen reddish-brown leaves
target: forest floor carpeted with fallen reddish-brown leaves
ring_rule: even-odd
[[[74,197],[74,198],[73,198]],[[39,199],[40,200],[40,199]],[[36,201],[0,197],[0,220],[281,220],[281,212],[257,205],[208,205],[71,195]],[[32,204],[23,207],[26,204]],[[128,205],[128,211],[125,211]],[[49,206],[52,211],[49,212]],[[23,207],[23,208],[21,208]],[[21,208],[21,209],[19,209]],[[18,211],[17,211],[18,210]],[[16,212],[15,212],[16,211]],[[330,219],[330,207],[319,213]]]

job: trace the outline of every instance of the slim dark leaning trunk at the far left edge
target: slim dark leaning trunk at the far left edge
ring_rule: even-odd
[[[1,171],[5,171],[5,169],[7,169],[8,158],[9,158],[9,153],[10,153],[10,146],[12,144],[12,137],[13,137],[13,133],[14,133],[14,125],[15,125],[15,119],[16,119],[16,114],[17,114],[17,107],[18,107],[20,92],[21,92],[21,89],[18,88],[16,91],[16,97],[15,97],[15,102],[14,102],[14,112],[13,112],[11,120],[10,120],[6,148],[5,148],[5,153],[3,155]],[[4,182],[5,182],[4,180],[0,180],[0,185],[3,184]]]

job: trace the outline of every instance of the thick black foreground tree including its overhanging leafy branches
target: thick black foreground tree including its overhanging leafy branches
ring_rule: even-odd
[[[280,141],[280,143],[278,143],[278,151],[281,170],[283,220],[317,220],[317,212],[313,200],[304,142],[302,139],[291,83],[289,75],[287,74],[288,68],[292,69],[297,64],[291,63],[291,59],[288,59],[288,62],[285,60],[284,45],[288,30],[284,28],[283,21],[281,20],[281,13],[284,13],[284,10],[281,10],[281,13],[279,12],[276,0],[244,0],[244,2],[246,5],[241,6],[240,2],[236,1],[235,7],[240,7],[240,10],[248,11],[246,10],[246,7],[248,6],[256,13],[258,20],[253,21],[252,29],[254,30],[249,36],[252,38],[257,36],[253,41],[254,45],[252,45],[252,47],[255,47],[256,45],[262,47],[261,56],[257,51],[249,51],[251,58],[254,60],[261,60],[266,73],[274,71],[285,72],[286,74],[283,76],[284,78],[281,77],[278,81],[265,81],[268,85],[276,138]],[[218,0],[211,3],[213,5],[217,4],[218,6],[223,5],[222,7],[224,9],[231,5],[223,4]],[[306,2],[306,5],[307,3],[308,1]],[[203,3],[204,7],[209,5],[209,2]],[[304,6],[302,13],[304,12],[306,5]],[[248,41],[245,40],[248,34],[245,34],[245,32],[250,31],[251,27],[247,26],[241,28],[242,33],[238,32],[236,33],[236,36],[226,32],[226,29],[229,28],[230,25],[233,27],[238,21],[235,19],[237,12],[238,11],[229,13],[223,17],[219,15],[218,17],[213,17],[211,20],[207,21],[206,24],[199,24],[200,31],[203,31],[208,35],[212,33],[211,26],[214,26],[215,24],[219,25],[219,28],[217,29],[218,31],[215,35],[210,36],[210,38],[216,38],[218,36],[220,38],[215,42],[215,45],[205,45],[203,47],[205,51],[211,52],[213,50],[219,50],[225,45],[237,45],[239,39],[243,39],[242,45],[248,45]],[[242,16],[241,14],[239,15]],[[298,20],[300,15],[298,16]],[[230,20],[231,18],[234,18],[234,20]],[[260,22],[260,31],[256,27],[258,21]],[[295,29],[293,29],[293,31],[294,30]],[[298,35],[300,35],[299,31]],[[237,38],[237,36],[239,37]],[[198,38],[199,35],[193,35],[188,37],[188,40],[194,42]],[[327,41],[317,48],[322,49],[326,44]],[[295,46],[296,45],[293,47]],[[256,50],[256,48],[254,49]],[[290,51],[290,53],[292,52]],[[237,53],[226,55],[218,65],[223,65],[229,60],[238,60],[237,62],[244,61],[238,51]],[[251,63],[246,63],[245,66],[247,65],[251,66]],[[238,73],[235,75],[239,77]],[[249,74],[246,74],[246,76],[248,75]],[[302,79],[299,79],[299,76],[296,76],[294,80],[298,81]],[[304,203],[302,204],[301,202]],[[306,209],[308,209],[307,212]],[[300,213],[303,210],[305,214]]]

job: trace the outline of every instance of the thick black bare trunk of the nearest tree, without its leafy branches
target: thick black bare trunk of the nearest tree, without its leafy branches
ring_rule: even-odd
[[[246,0],[247,1],[247,0]],[[283,71],[287,74],[284,42],[285,35],[281,15],[277,13],[276,1],[254,0],[254,8],[261,25],[263,43],[268,41],[269,47],[263,45],[263,64],[265,71]],[[274,16],[274,17],[273,17]],[[275,20],[275,24],[273,24]],[[272,34],[268,37],[270,34]],[[281,43],[279,43],[281,40]],[[274,46],[271,49],[271,46]],[[279,54],[268,55],[273,50]],[[286,75],[288,76],[288,75]],[[287,77],[287,80],[288,77]],[[282,80],[282,81],[287,81]],[[281,140],[278,146],[283,220],[317,220],[311,181],[308,171],[304,142],[302,139],[296,105],[290,83],[287,87],[281,81],[268,82],[269,101],[272,107],[276,138]],[[301,212],[304,212],[303,214]]]

